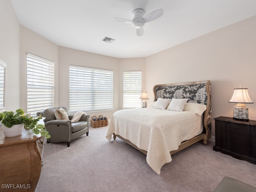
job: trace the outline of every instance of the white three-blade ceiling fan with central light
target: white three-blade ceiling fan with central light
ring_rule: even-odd
[[[132,12],[132,14],[133,14],[132,20],[118,18],[118,17],[114,17],[113,20],[132,24],[132,26],[136,28],[137,36],[142,36],[144,34],[144,29],[143,29],[144,24],[147,22],[156,20],[157,18],[159,18],[164,14],[164,11],[162,9],[158,9],[144,16],[145,12],[143,9],[136,9]]]

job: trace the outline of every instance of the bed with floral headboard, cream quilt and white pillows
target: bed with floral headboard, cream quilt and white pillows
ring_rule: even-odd
[[[153,92],[154,102],[148,108],[116,111],[106,138],[110,141],[113,135],[114,140],[118,137],[140,150],[152,170],[160,174],[162,166],[172,161],[172,154],[200,140],[207,144],[211,135],[211,86],[210,80],[160,84]]]

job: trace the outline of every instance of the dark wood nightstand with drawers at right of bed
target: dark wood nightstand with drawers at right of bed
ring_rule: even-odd
[[[213,150],[256,164],[256,121],[244,122],[223,116],[215,118]]]

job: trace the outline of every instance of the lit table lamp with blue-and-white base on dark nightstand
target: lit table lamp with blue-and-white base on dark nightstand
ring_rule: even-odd
[[[248,118],[248,108],[243,103],[253,103],[248,94],[247,88],[237,88],[234,89],[231,103],[238,103],[234,106],[234,117],[235,120],[249,121]]]

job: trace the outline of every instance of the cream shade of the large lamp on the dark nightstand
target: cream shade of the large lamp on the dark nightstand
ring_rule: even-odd
[[[229,102],[232,103],[253,103],[248,94],[247,88],[234,89],[234,93]]]

